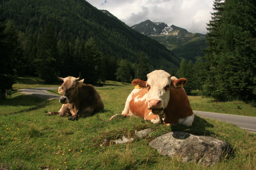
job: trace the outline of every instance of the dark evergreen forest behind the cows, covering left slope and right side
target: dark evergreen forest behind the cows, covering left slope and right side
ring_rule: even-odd
[[[256,2],[215,0],[207,24],[205,56],[180,59],[84,0],[0,1],[0,91],[15,76],[35,75],[45,82],[78,76],[99,85],[106,80],[130,83],[162,69],[187,78],[187,94],[219,101],[256,99]],[[4,83],[2,83],[4,82]]]

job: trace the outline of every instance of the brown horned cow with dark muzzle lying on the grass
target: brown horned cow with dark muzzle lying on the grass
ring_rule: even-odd
[[[48,112],[45,115],[65,116],[69,114],[70,120],[76,120],[78,116],[90,116],[93,112],[103,111],[104,104],[101,96],[91,84],[84,84],[84,79],[80,80],[80,74],[79,78],[71,76],[60,78],[57,75],[56,77],[64,82],[58,89],[62,106],[59,111]]]

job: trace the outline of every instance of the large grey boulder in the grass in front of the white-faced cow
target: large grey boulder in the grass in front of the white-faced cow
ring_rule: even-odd
[[[183,162],[199,162],[207,166],[219,162],[230,151],[225,141],[184,132],[169,132],[157,137],[149,145],[161,155],[178,156]]]

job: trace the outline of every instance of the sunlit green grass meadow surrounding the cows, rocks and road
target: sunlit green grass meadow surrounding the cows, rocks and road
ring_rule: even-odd
[[[26,80],[25,80],[26,79]],[[45,85],[37,78],[20,78],[14,89]],[[256,169],[256,134],[239,127],[195,116],[191,127],[152,124],[138,117],[116,119],[133,86],[107,82],[97,88],[105,104],[105,110],[77,121],[67,117],[44,116],[48,111],[58,111],[57,99],[43,100],[15,92],[11,98],[0,99],[0,167],[5,169]],[[122,87],[121,87],[122,86]],[[193,110],[226,114],[256,116],[255,108],[243,102],[215,102],[210,98],[189,96]],[[115,145],[114,140],[134,137],[135,130],[151,128],[147,138],[132,143]],[[170,131],[185,131],[225,140],[232,147],[230,155],[211,167],[183,163],[178,157],[165,157],[148,146],[156,137]]]

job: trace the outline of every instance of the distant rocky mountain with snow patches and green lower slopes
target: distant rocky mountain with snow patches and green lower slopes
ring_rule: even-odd
[[[165,23],[146,20],[131,28],[157,40],[177,57],[193,62],[204,56],[201,48],[207,48],[204,34],[191,33],[175,25],[168,26]]]

